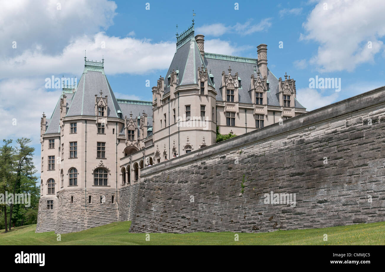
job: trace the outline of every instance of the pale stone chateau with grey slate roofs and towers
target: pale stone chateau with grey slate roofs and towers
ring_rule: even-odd
[[[50,118],[41,118],[41,197],[37,232],[73,232],[121,218],[141,169],[306,112],[295,81],[258,59],[204,52],[194,24],[177,35],[176,52],[152,101],[117,99],[104,60],[85,59],[77,86],[64,86]],[[140,196],[139,196],[140,197]],[[131,199],[130,199],[131,201]]]

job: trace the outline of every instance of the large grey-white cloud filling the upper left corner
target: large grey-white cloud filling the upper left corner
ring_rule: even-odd
[[[117,5],[107,0],[13,0],[0,8],[0,57],[15,57],[39,48],[57,54],[71,40],[105,30],[113,24]],[[12,48],[15,41],[17,48]]]

